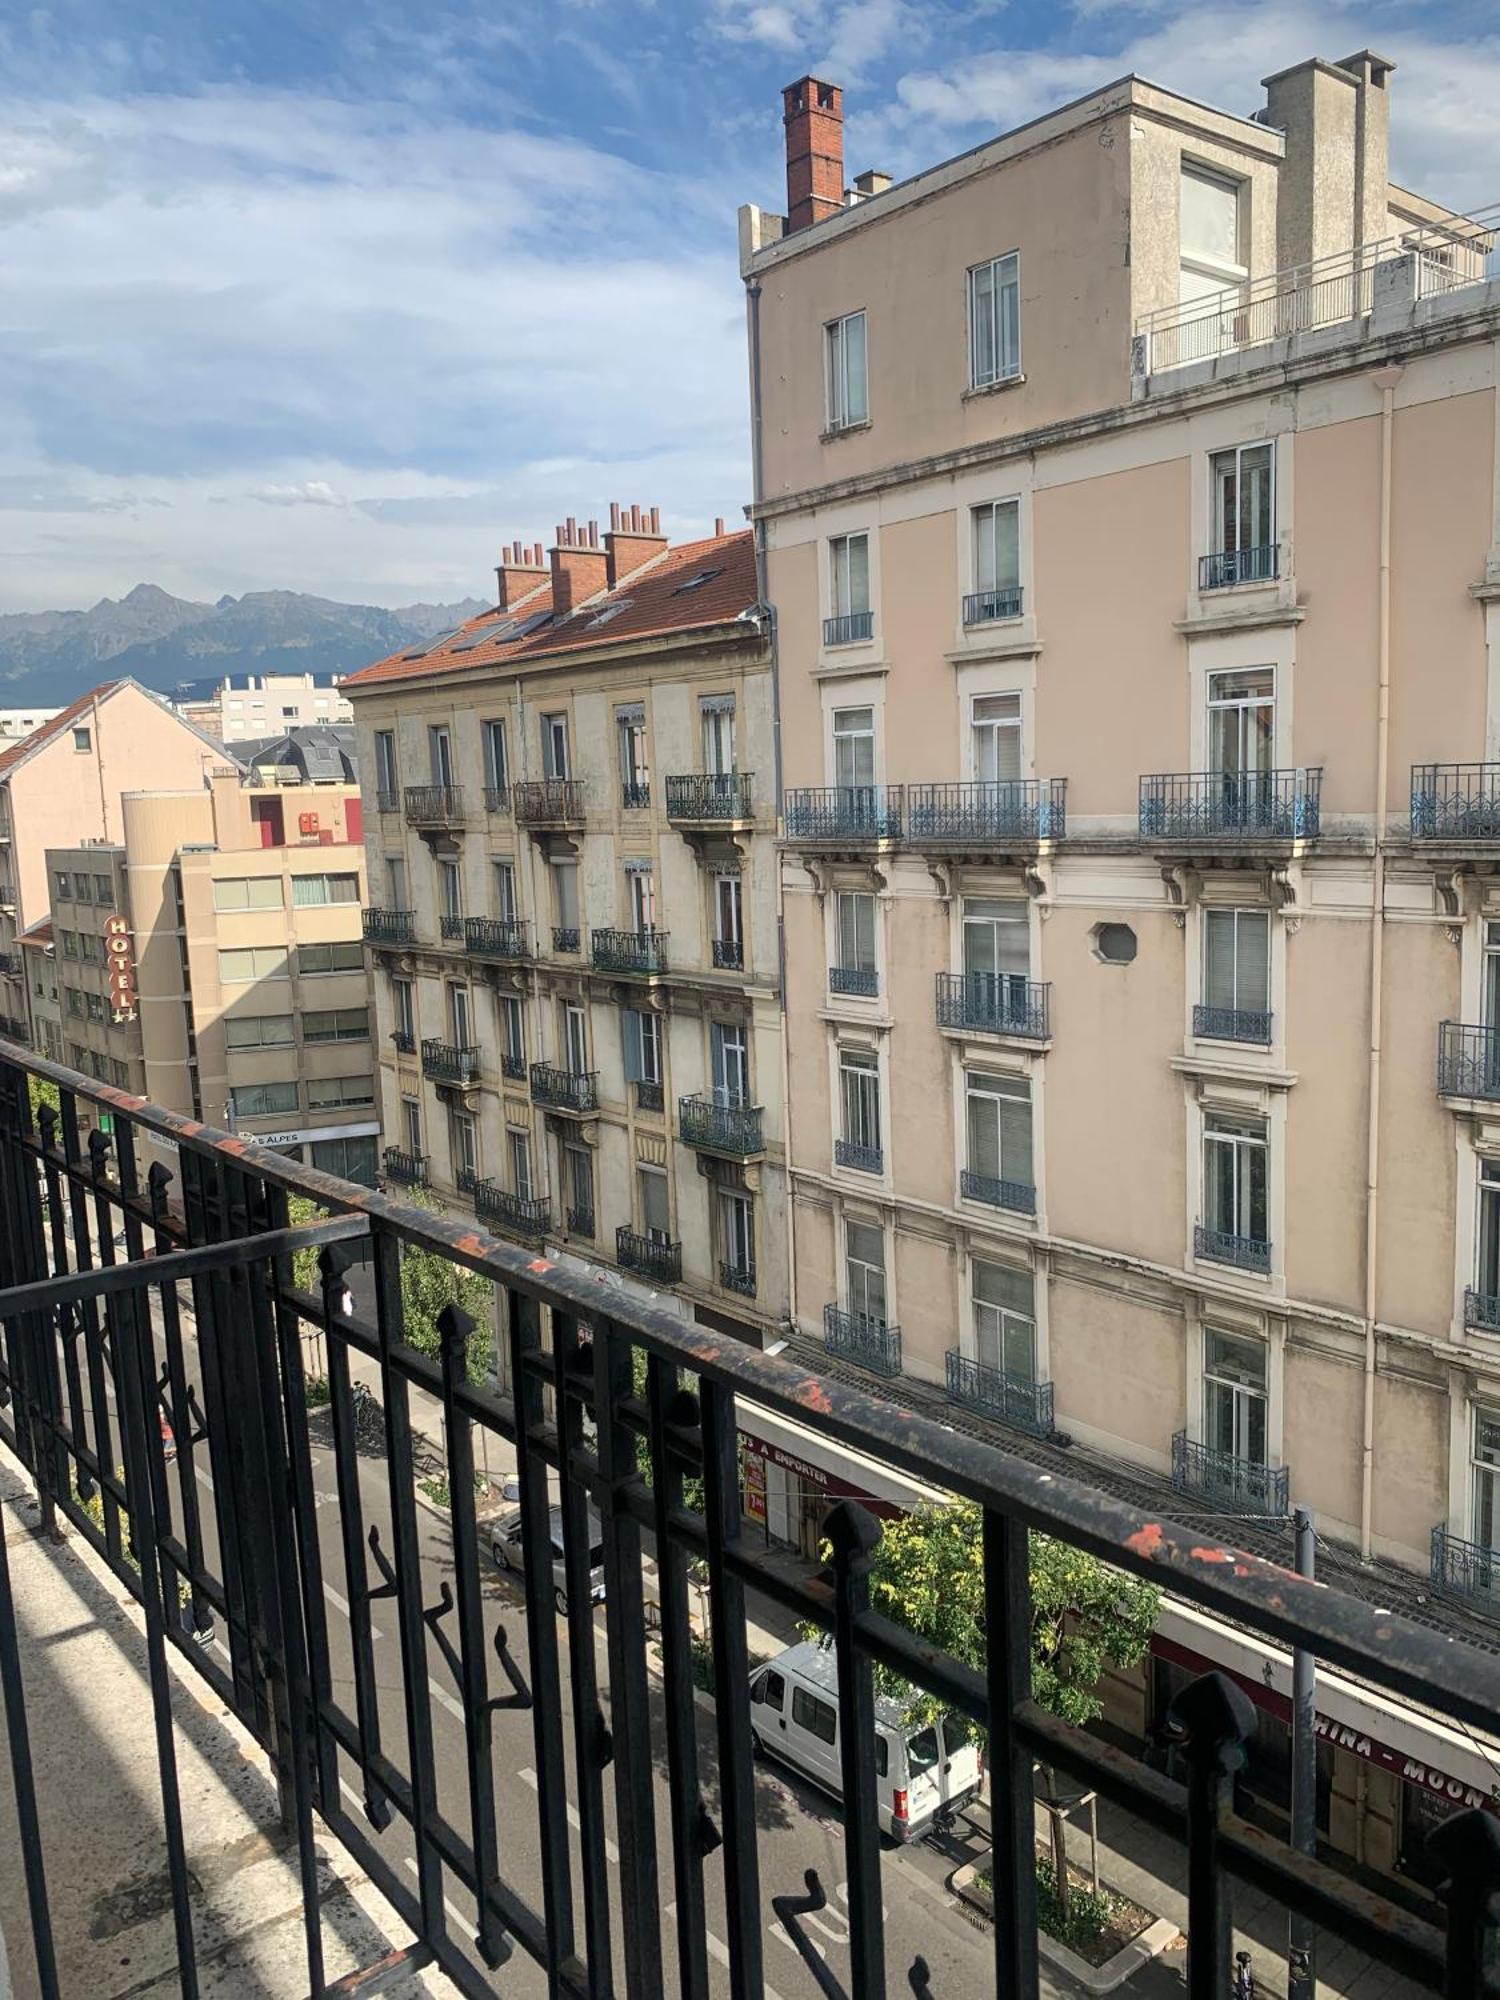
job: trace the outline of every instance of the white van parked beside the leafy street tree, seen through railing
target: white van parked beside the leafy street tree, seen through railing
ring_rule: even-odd
[[[750,1680],[750,1740],[758,1756],[792,1764],[824,1792],[844,1796],[838,1752],[838,1662],[830,1644],[788,1646]],[[980,1788],[980,1748],[968,1724],[908,1722],[876,1694],[876,1800],[880,1832],[916,1840],[940,1812]]]

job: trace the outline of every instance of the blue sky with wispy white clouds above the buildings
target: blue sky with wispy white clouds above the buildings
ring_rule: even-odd
[[[452,600],[610,500],[736,520],[782,84],[904,176],[1128,70],[1252,112],[1364,46],[1394,178],[1500,202],[1492,0],[12,0],[0,612]]]

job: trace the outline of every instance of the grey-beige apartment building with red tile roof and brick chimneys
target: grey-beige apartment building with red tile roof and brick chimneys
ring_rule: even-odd
[[[748,532],[512,544],[344,682],[384,1170],[760,1342],[786,1312],[770,652]]]

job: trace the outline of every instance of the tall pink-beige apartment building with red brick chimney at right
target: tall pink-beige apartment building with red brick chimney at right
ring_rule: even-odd
[[[792,1312],[822,1366],[1278,1560],[1306,1504],[1480,1632],[1500,212],[1392,184],[1384,58],[1264,88],[1128,76],[850,192],[840,90],[786,92],[788,214],[740,242]],[[1230,1662],[1202,1624],[1168,1612],[1140,1726]],[[1328,1758],[1334,1838],[1418,1870],[1422,1784]]]

